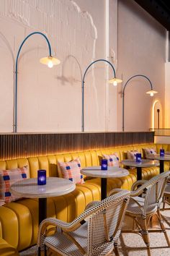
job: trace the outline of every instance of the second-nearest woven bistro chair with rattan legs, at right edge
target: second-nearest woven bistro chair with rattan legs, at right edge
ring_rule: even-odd
[[[133,226],[131,231],[123,230],[122,233],[133,232],[140,234],[146,244],[148,255],[151,255],[150,239],[148,236],[148,224],[154,215],[157,216],[161,229],[153,229],[152,231],[163,231],[166,242],[170,247],[169,237],[166,234],[166,229],[164,227],[160,213],[160,206],[163,200],[164,189],[169,174],[170,171],[166,171],[162,174],[154,176],[148,181],[141,180],[135,182],[133,184],[132,191],[130,192],[130,202],[125,214],[130,216],[130,218],[133,218],[137,230],[134,229]],[[113,189],[111,192],[109,192],[109,195],[112,195],[116,191],[120,192],[120,189]]]

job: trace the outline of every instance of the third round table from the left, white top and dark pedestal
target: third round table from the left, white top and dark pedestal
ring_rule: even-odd
[[[140,163],[135,160],[125,159],[121,161],[125,166],[136,167],[137,168],[137,180],[142,179],[142,168],[144,167],[153,167],[159,166],[158,161],[150,160],[150,159],[142,159]]]

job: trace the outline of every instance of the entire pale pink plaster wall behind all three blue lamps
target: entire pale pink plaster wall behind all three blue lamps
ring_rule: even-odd
[[[147,81],[138,79],[128,85],[125,130],[148,130],[156,99],[164,112],[166,31],[133,0],[1,0],[0,132],[13,130],[15,59],[22,40],[34,31],[48,36],[52,54],[61,64],[53,69],[40,64],[39,59],[48,55],[40,35],[33,35],[22,46],[18,132],[80,132],[81,80],[96,59],[111,61],[124,82],[133,74],[146,74],[158,90],[150,98],[145,94]],[[86,74],[86,132],[122,129],[121,85],[108,85],[109,77],[112,70],[104,62],[94,64]]]

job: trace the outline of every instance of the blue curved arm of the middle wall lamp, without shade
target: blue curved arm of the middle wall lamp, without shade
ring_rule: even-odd
[[[82,115],[81,115],[81,132],[84,132],[84,78],[86,76],[86,72],[89,69],[89,67],[91,67],[92,64],[98,62],[98,61],[105,61],[107,62],[113,70],[113,74],[114,77],[116,77],[116,73],[115,73],[115,68],[113,67],[112,63],[110,63],[109,61],[107,61],[106,59],[97,59],[96,61],[91,62],[91,64],[89,64],[89,66],[86,68],[86,71],[84,72],[84,76],[83,76],[83,80],[82,80]]]

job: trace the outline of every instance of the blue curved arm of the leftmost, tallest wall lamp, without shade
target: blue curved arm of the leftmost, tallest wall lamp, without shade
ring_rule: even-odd
[[[24,40],[22,41],[22,44],[19,46],[19,50],[17,53],[17,59],[15,61],[15,85],[14,85],[14,132],[17,132],[17,76],[18,76],[18,58],[19,58],[19,53],[22,49],[22,46],[24,44],[24,42],[27,40],[27,38],[30,38],[31,35],[35,35],[35,34],[39,34],[42,35],[45,40],[48,43],[48,48],[49,48],[49,56],[51,56],[51,47],[50,47],[50,42],[48,40],[48,38],[46,37],[45,34],[41,33],[41,32],[33,32],[30,33],[30,35],[27,35],[26,38],[24,38]]]

